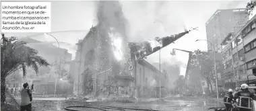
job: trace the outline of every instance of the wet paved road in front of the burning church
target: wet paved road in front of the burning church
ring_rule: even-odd
[[[19,101],[19,100],[18,100]],[[84,105],[101,105],[101,106],[117,106],[122,108],[143,108],[162,111],[205,111],[210,107],[218,106],[216,100],[203,98],[166,98],[154,102],[137,102],[137,103],[121,103],[121,102],[78,102],[68,100],[54,99],[36,99],[32,102],[34,111],[65,111],[66,106],[84,106]],[[219,106],[224,106],[219,103]],[[92,108],[71,108],[73,110],[90,110]],[[96,110],[98,111],[98,110]],[[115,110],[113,110],[115,111]]]

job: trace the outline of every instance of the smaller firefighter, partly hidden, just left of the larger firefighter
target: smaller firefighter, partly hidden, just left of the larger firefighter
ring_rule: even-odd
[[[232,103],[231,103],[232,100],[233,100],[233,90],[228,89],[228,93],[226,93],[224,96],[224,104],[227,110],[230,110],[230,108],[232,108]]]

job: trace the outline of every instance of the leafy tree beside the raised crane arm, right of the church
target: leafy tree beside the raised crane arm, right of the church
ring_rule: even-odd
[[[214,75],[214,61],[210,58],[210,52],[204,52],[201,50],[195,50],[191,59],[191,68],[199,70],[201,79],[207,82],[207,87],[209,85],[212,89],[212,82],[215,80]],[[208,90],[209,91],[209,90]]]

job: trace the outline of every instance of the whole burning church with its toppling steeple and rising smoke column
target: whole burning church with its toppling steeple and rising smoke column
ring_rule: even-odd
[[[162,45],[156,47],[150,42],[127,42],[127,21],[119,1],[98,2],[98,24],[77,43],[71,66],[74,94],[107,98],[158,96],[159,85],[166,85],[164,74],[143,58],[189,31],[157,38]]]

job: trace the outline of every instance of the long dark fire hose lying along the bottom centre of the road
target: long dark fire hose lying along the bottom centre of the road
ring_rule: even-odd
[[[98,110],[103,110],[103,111],[109,111],[109,110],[147,110],[147,111],[159,111],[159,110],[150,110],[150,109],[139,109],[139,108],[121,108],[121,107],[113,107],[113,106],[67,106],[64,109],[69,110],[69,111],[80,111],[80,110],[73,110],[70,108],[94,108]]]

